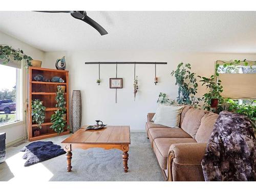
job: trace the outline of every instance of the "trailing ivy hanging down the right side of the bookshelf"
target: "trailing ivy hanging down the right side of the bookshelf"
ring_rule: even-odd
[[[51,122],[53,123],[50,128],[53,129],[56,133],[60,134],[64,131],[67,121],[63,119],[63,114],[66,113],[66,101],[64,98],[64,93],[61,90],[60,86],[57,86],[56,93],[56,108],[58,108],[54,114],[51,116]]]

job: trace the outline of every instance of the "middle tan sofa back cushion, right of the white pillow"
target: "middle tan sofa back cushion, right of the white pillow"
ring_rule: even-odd
[[[202,117],[208,113],[204,110],[189,109],[182,121],[181,128],[188,133],[191,137],[195,138],[197,130],[201,124]]]

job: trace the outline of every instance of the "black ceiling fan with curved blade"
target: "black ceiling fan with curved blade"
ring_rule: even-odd
[[[101,35],[106,35],[108,32],[101,27],[95,20],[87,16],[86,11],[36,11],[36,12],[43,12],[43,13],[70,13],[72,17],[77,18],[79,20],[82,20],[83,22],[86,22],[90,26],[92,26],[94,29],[96,29]]]

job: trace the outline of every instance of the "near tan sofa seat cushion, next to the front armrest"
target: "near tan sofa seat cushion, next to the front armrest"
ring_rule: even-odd
[[[170,145],[174,143],[195,143],[193,138],[157,138],[153,142],[153,150],[162,169],[167,168],[167,157]]]

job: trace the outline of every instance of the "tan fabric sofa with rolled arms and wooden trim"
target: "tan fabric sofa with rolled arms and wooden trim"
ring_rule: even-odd
[[[167,181],[204,181],[201,161],[218,114],[184,105],[180,128],[154,124],[147,114],[146,132]]]

